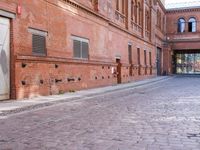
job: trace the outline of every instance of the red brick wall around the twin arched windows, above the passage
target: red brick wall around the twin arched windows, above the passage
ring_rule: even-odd
[[[172,54],[177,50],[200,50],[200,9],[199,8],[183,8],[177,10],[168,10],[167,16],[167,42],[169,55],[166,57],[165,64],[168,65],[168,70],[172,73]],[[197,20],[197,31],[194,33],[188,32],[188,21],[191,17],[195,17]],[[178,19],[184,18],[186,21],[185,32],[178,33]],[[167,66],[166,66],[167,67]]]

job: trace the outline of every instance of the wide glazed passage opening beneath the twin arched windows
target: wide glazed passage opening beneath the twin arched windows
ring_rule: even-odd
[[[200,50],[175,51],[176,74],[200,74]]]

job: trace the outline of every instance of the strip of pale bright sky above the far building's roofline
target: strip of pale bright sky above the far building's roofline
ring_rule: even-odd
[[[167,8],[200,6],[200,0],[166,0]]]

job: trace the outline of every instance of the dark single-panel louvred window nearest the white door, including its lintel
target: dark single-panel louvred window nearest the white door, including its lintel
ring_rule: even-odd
[[[33,28],[28,28],[28,32],[32,33],[32,54],[46,55],[46,36],[48,33]]]

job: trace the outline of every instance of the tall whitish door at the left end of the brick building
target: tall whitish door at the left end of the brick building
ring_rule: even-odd
[[[0,17],[0,100],[10,98],[10,20]]]

